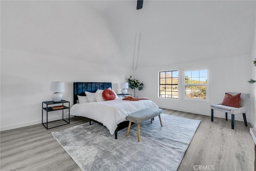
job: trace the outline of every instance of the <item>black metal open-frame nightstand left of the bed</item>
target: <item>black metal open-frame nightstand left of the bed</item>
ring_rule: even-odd
[[[64,119],[64,115],[63,115],[64,109],[68,109],[68,121]],[[61,100],[60,102],[43,101],[42,102],[42,125],[44,125],[44,127],[46,129],[50,129],[50,128],[59,127],[59,126],[62,126],[62,125],[69,124],[70,123],[69,109],[70,109],[70,103],[69,103],[69,101],[66,101],[66,100]],[[48,128],[48,123],[50,123],[50,122],[48,122],[48,112],[58,111],[58,110],[62,110],[62,119],[58,119],[58,120],[50,121],[50,122],[64,121],[66,123],[64,123],[62,125],[58,125],[58,126]],[[46,122],[43,122],[43,113],[44,113],[44,111],[46,111]]]

